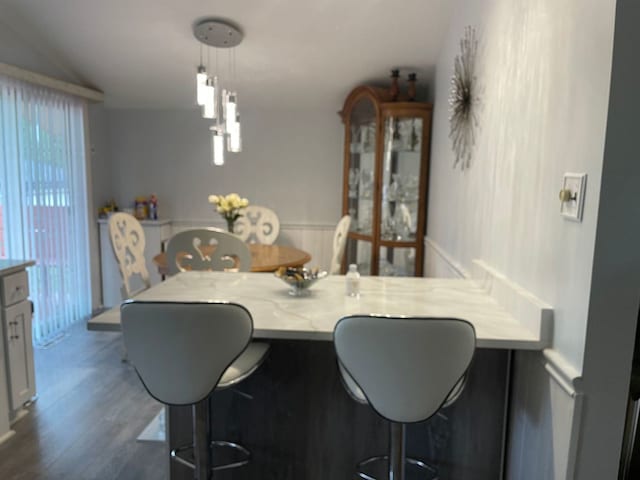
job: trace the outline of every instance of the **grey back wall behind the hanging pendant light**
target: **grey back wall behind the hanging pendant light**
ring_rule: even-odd
[[[156,193],[161,216],[218,221],[211,194],[238,192],[274,209],[283,224],[337,222],[343,129],[334,109],[242,110],[243,151],[211,165],[210,121],[197,110],[110,110],[116,200]]]

